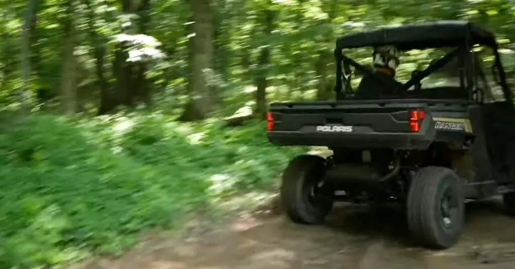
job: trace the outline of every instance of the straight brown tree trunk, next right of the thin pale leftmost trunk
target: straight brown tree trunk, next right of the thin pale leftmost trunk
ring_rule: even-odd
[[[75,27],[73,22],[74,1],[67,1],[66,15],[62,21],[62,70],[61,70],[61,102],[66,115],[74,115],[77,111],[77,84],[76,84],[76,59]]]

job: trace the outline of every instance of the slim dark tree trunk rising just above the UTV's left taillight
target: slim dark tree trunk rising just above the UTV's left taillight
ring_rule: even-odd
[[[271,5],[271,3],[269,3]],[[268,9],[264,10],[264,35],[265,38],[269,39],[272,30],[273,30],[273,21],[275,17],[275,12]],[[258,60],[258,74],[256,77],[256,107],[255,114],[260,118],[265,118],[266,115],[266,88],[268,87],[268,66],[270,65],[270,48],[269,46],[264,46],[261,48],[259,60]]]

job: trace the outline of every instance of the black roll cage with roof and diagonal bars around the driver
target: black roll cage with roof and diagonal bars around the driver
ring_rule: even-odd
[[[363,74],[375,79],[380,84],[391,83],[384,77],[374,75],[367,67],[355,62],[343,53],[345,48],[359,48],[380,45],[396,45],[400,50],[457,47],[442,58],[432,62],[427,68],[415,71],[411,78],[402,84],[399,91],[405,92],[411,86],[417,85],[435,71],[444,67],[454,58],[459,57],[460,65],[464,66],[464,74],[460,75],[460,87],[465,88],[468,100],[473,100],[477,92],[474,76],[485,77],[481,68],[477,68],[472,49],[474,45],[490,47],[494,53],[492,73],[495,82],[501,85],[506,100],[512,100],[512,93],[506,83],[506,75],[501,63],[494,35],[478,26],[464,21],[440,21],[419,25],[382,28],[372,31],[353,33],[340,37],[334,50],[336,58],[335,92],[338,100],[350,96],[351,66]],[[510,102],[512,103],[512,102]]]

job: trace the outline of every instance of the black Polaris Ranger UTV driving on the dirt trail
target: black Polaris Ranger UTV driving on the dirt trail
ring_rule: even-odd
[[[380,46],[445,53],[404,83],[344,53]],[[272,103],[267,114],[272,144],[333,151],[285,169],[281,201],[292,221],[321,223],[335,201],[397,201],[418,242],[449,248],[466,200],[503,194],[515,212],[515,110],[491,32],[464,21],[382,28],[338,38],[334,54],[335,101]],[[355,91],[359,74],[369,83]]]

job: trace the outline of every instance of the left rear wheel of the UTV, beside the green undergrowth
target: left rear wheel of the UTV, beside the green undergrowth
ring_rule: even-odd
[[[291,221],[318,224],[329,214],[333,200],[322,188],[325,170],[325,159],[316,155],[297,156],[286,167],[281,202]]]

